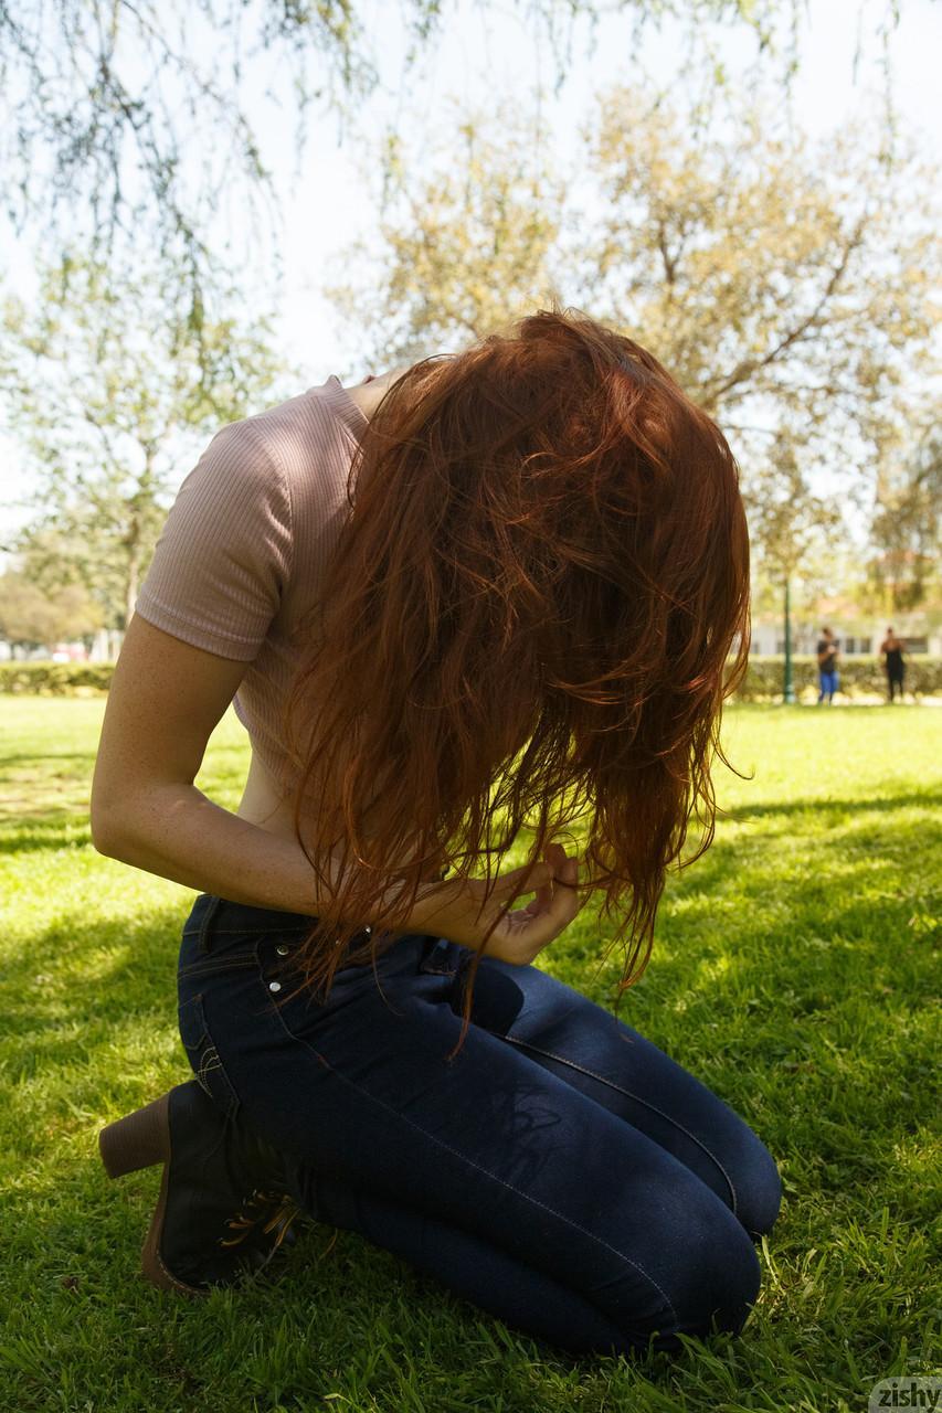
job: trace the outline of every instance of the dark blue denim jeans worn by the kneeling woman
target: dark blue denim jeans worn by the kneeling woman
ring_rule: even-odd
[[[448,1058],[465,948],[400,935],[320,1003],[291,971],[307,928],[202,893],[178,978],[197,1078],[280,1152],[307,1212],[577,1354],[741,1328],[781,1187],[726,1104],[578,992],[495,959]]]

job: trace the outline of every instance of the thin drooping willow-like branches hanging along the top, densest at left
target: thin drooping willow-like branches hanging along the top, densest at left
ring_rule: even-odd
[[[385,76],[409,85],[420,58],[454,23],[457,0],[402,0],[407,47],[402,71],[380,73],[373,11],[356,0],[55,0],[0,6],[0,76],[16,120],[4,141],[7,208],[18,227],[52,247],[93,237],[103,247],[141,236],[182,264],[194,307],[215,287],[222,252],[212,218],[250,242],[272,232],[276,189],[249,85],[277,92],[276,130],[300,153],[318,117],[354,116]],[[487,21],[482,4],[475,18]],[[639,31],[665,16],[689,28],[738,21],[775,52],[777,31],[793,48],[789,18],[799,0],[513,0],[528,38],[554,61],[562,83],[573,62],[573,27],[612,10],[625,16],[631,52]],[[892,11],[881,0],[880,14]],[[785,24],[782,24],[785,20]],[[591,45],[588,45],[591,52]],[[195,179],[194,179],[195,177]],[[231,205],[223,205],[225,198]],[[238,213],[238,232],[233,232]]]

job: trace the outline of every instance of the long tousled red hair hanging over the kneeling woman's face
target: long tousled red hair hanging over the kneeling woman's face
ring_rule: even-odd
[[[297,838],[322,883],[330,856],[345,873],[304,982],[330,991],[365,920],[389,945],[443,868],[489,882],[518,839],[542,861],[571,825],[624,989],[692,820],[687,862],[711,842],[745,670],[723,432],[641,345],[554,305],[409,367],[347,495],[284,721]]]

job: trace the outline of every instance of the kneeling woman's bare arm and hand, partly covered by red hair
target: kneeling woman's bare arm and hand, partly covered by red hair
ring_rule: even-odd
[[[215,725],[246,671],[191,647],[134,615],[115,668],[92,783],[92,841],[99,853],[233,903],[317,916],[320,882],[300,844],[214,804],[194,779]],[[339,863],[330,886],[339,882]],[[403,931],[440,931],[478,948],[495,907],[519,889],[516,869],[484,885],[426,885]],[[553,887],[554,877],[567,887]],[[536,899],[508,914],[487,952],[529,962],[573,920],[576,861],[556,846],[530,868]],[[356,918],[368,923],[371,918]]]

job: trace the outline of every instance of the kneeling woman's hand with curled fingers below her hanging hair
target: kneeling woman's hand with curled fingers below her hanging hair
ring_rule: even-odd
[[[409,931],[433,933],[451,942],[481,951],[484,934],[498,916],[501,906],[521,890],[528,879],[528,868],[511,869],[491,880],[485,897],[482,879],[455,879],[420,890],[409,920]],[[567,855],[560,844],[546,849],[546,862],[529,866],[528,886],[533,893],[526,907],[508,913],[487,941],[485,955],[525,966],[564,931],[581,909],[584,899],[577,893],[578,861]]]

